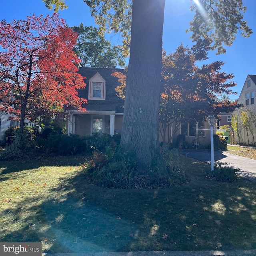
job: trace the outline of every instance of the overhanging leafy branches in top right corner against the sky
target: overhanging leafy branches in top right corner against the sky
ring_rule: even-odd
[[[191,10],[195,15],[187,32],[192,32],[192,41],[210,50],[217,49],[218,54],[226,53],[224,46],[231,46],[236,34],[243,37],[252,34],[243,20],[246,7],[242,0],[194,1]]]

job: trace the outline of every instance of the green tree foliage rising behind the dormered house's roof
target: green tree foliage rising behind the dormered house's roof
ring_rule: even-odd
[[[97,28],[92,26],[71,27],[78,33],[77,44],[74,47],[76,55],[81,59],[82,67],[116,68],[124,66],[124,55],[118,46],[111,46]]]

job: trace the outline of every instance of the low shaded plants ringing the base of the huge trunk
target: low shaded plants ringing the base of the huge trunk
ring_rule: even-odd
[[[83,169],[86,179],[91,184],[108,188],[159,188],[184,184],[186,178],[178,154],[167,153],[167,168],[160,170],[152,166],[142,173],[136,153],[116,146],[106,153],[93,152],[92,159]],[[168,159],[167,159],[168,158]]]

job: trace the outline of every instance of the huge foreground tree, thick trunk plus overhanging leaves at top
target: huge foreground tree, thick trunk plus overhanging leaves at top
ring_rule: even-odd
[[[43,1],[46,4],[54,4],[52,0]],[[84,0],[84,2],[91,8],[91,14],[95,16],[102,31],[106,28],[109,31],[120,31],[126,40],[124,44],[130,45],[121,144],[124,144],[128,150],[135,149],[142,166],[149,166],[156,152],[159,152],[158,108],[165,0]],[[207,29],[207,21],[201,18],[199,9],[211,11],[207,5],[213,7],[213,4],[216,13],[219,14],[218,20],[212,16],[213,28],[215,24],[219,27],[211,30],[212,34],[209,37],[202,33],[204,26],[206,32],[210,30]],[[226,6],[225,12],[223,6]],[[196,11],[196,18],[191,24],[192,39],[199,42],[205,50],[217,48],[219,53],[224,52],[219,42],[230,45],[238,29],[245,32],[244,36],[250,34],[246,33],[248,27],[240,14],[244,11],[242,0],[204,0],[202,6],[194,7],[193,10]],[[130,19],[131,14],[132,19]],[[222,25],[223,20],[225,25]],[[220,33],[223,27],[228,33]],[[131,35],[130,43],[129,35]],[[216,44],[211,46],[213,40]]]

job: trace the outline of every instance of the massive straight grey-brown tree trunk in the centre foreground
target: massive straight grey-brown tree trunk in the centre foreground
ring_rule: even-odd
[[[159,152],[158,110],[165,0],[133,0],[121,144],[144,167]]]

